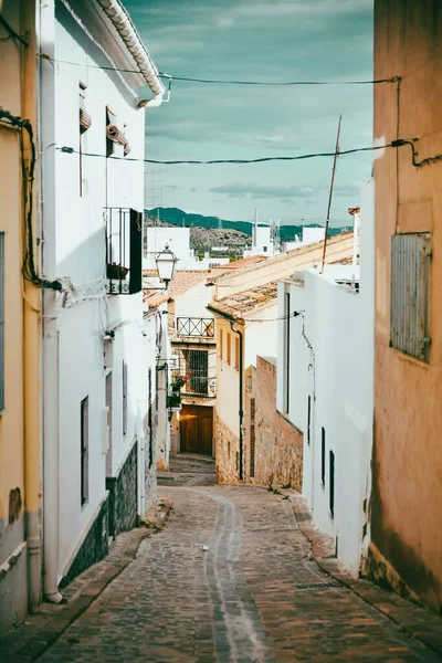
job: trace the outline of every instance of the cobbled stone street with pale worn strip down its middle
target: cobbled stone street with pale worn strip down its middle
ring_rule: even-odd
[[[175,505],[164,532],[40,661],[441,661],[318,569],[281,495],[160,493]]]

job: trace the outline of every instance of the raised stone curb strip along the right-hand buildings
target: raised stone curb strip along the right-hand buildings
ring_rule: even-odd
[[[320,570],[390,619],[409,638],[442,656],[442,619],[424,606],[410,602],[362,578],[352,578],[336,558],[333,539],[314,526],[306,499],[294,491],[280,488],[280,492],[290,498],[297,526],[311,544],[313,558]]]

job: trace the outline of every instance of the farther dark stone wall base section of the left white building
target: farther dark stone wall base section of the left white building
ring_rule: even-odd
[[[109,492],[109,536],[131,529],[137,520],[138,502],[138,450],[134,443],[117,476],[106,478]]]

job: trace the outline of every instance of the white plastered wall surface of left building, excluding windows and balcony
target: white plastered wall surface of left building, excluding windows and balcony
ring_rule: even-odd
[[[55,22],[55,57],[86,62],[95,46],[66,17],[59,4]],[[75,36],[74,36],[75,35]],[[91,62],[91,60],[88,60]],[[54,141],[78,148],[78,83],[86,87],[86,109],[92,126],[84,134],[85,151],[106,154],[106,105],[115,112],[130,144],[130,158],[144,158],[144,110],[114,74],[99,69],[57,63],[52,67],[55,98],[43,95],[43,115],[54,104]],[[44,136],[43,136],[44,141]],[[43,144],[43,150],[52,150]],[[59,299],[59,443],[60,443],[60,559],[66,571],[106,496],[105,432],[105,330],[113,341],[113,440],[110,473],[118,473],[136,443],[140,418],[147,409],[147,348],[143,336],[141,294],[103,296],[105,265],[105,207],[144,209],[144,165],[112,158],[83,158],[83,194],[80,194],[80,157],[57,150],[54,181],[44,182],[44,200],[55,196],[56,274],[75,286],[76,303]],[[123,435],[123,360],[128,371],[128,425]],[[81,505],[80,407],[88,396],[90,496]]]

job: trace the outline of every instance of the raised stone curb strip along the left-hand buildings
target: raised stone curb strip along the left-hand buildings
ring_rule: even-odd
[[[36,661],[136,558],[141,541],[161,530],[171,508],[171,502],[159,499],[159,504],[146,514],[146,527],[120,534],[110,544],[107,557],[64,588],[62,603],[42,603],[3,635],[0,660],[11,663]]]

